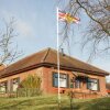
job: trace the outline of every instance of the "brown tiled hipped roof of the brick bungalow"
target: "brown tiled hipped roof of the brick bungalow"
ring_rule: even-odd
[[[62,53],[59,53],[59,61],[61,61],[62,69],[81,72],[86,74],[96,74],[102,76],[109,75],[109,73],[102,69],[99,69],[87,63],[80,62],[74,57],[63,55]],[[22,72],[26,72],[36,67],[42,67],[42,66],[57,67],[57,51],[53,48],[46,48],[33,55],[30,55],[25,58],[22,58],[19,62],[1,70],[0,78],[19,74]]]

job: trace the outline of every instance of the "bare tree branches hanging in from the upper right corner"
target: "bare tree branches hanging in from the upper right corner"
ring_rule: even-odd
[[[101,52],[110,52],[110,0],[68,0],[65,8],[74,16],[82,18],[82,13],[89,18],[89,24],[85,29],[82,47],[91,44],[90,57]],[[65,24],[67,25],[67,23]],[[69,24],[68,24],[69,25]],[[67,30],[67,29],[66,29]],[[65,32],[67,37],[67,31]],[[94,54],[94,55],[92,55]],[[109,53],[110,54],[110,53]],[[89,57],[89,58],[90,58]]]

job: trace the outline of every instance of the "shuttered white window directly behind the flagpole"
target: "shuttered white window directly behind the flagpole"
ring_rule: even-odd
[[[59,75],[59,87],[67,87],[67,75],[66,74],[61,74]],[[53,74],[53,86],[58,87],[58,74],[54,73]]]

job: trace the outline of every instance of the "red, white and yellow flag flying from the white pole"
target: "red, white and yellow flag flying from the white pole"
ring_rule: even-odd
[[[63,12],[61,10],[58,10],[58,19],[61,21],[67,21],[68,23],[78,23],[80,21],[78,18],[75,18],[72,14]]]

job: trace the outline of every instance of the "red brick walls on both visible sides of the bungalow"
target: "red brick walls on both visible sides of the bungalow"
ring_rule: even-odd
[[[10,90],[10,81],[14,78],[20,78],[20,81],[22,81],[24,78],[28,77],[28,75],[37,75],[42,79],[41,89],[43,90],[43,94],[57,94],[58,89],[57,87],[53,87],[53,73],[57,73],[57,69],[54,69],[54,67],[47,68],[47,67],[40,67],[32,70],[28,70],[24,73],[20,73],[18,75],[9,76],[6,78],[0,79],[0,82],[8,81],[8,90]],[[80,88],[70,88],[70,79],[75,77],[75,75],[69,70],[61,70],[63,74],[68,74],[68,87],[67,88],[61,88],[61,92],[67,94],[69,90],[73,91],[79,91],[79,92],[97,92],[99,95],[107,95],[106,91],[106,78],[103,76],[97,76],[97,75],[88,75],[90,78],[99,79],[99,88],[100,90],[94,91],[87,89],[87,82],[80,82]],[[76,72],[75,72],[76,73]]]

